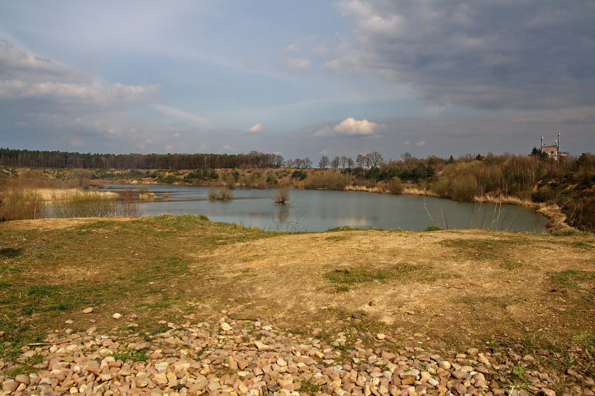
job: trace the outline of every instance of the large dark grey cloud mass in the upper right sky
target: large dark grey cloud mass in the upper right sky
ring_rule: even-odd
[[[410,85],[436,104],[595,105],[595,2],[342,0],[355,41],[322,69]]]

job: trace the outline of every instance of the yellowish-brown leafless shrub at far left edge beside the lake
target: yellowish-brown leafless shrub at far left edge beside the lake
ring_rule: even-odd
[[[48,217],[48,204],[39,192],[20,188],[0,192],[0,220],[45,217]]]

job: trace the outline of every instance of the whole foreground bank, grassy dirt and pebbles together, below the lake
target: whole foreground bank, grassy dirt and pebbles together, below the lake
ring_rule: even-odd
[[[19,396],[593,394],[594,248],[199,216],[4,223],[0,380]]]

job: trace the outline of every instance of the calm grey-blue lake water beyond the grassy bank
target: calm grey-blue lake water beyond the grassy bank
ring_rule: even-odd
[[[138,186],[111,184],[107,188],[121,191],[125,188],[134,190]],[[277,220],[279,214],[284,216],[284,211],[280,210],[283,205],[275,204],[271,198],[274,192],[272,188],[233,189],[234,199],[231,201],[209,201],[209,188],[205,186],[147,185],[147,188],[156,197],[140,200],[140,208],[145,215],[202,213],[210,220],[242,223],[261,229],[269,229],[273,225],[271,218]],[[496,210],[494,216],[494,204],[482,204],[480,213],[480,204],[447,198],[361,191],[290,191],[292,199],[300,195],[290,211],[289,221],[296,220],[296,213],[301,216],[302,231],[323,231],[337,226],[423,230],[433,225],[427,211],[432,217],[438,218],[440,227],[444,227],[442,214],[445,213],[449,229],[462,229],[471,227],[474,211],[474,227],[477,227],[479,217],[480,224],[483,222],[490,229],[493,218],[500,212],[500,220],[495,226],[497,229],[502,226],[503,229],[525,232],[547,232],[546,217],[536,214],[534,208],[516,205],[502,205],[502,210]],[[168,198],[164,195],[168,195]]]

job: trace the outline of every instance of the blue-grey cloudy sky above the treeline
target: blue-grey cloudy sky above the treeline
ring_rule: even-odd
[[[595,2],[0,2],[0,147],[595,152]]]

